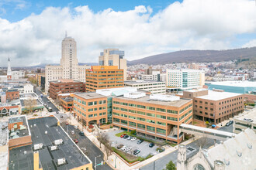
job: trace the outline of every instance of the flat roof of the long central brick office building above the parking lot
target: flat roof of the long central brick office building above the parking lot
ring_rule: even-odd
[[[163,101],[163,100],[151,100],[149,95],[146,95],[144,97],[140,97],[137,99],[134,98],[127,98],[127,97],[116,97],[118,99],[123,99],[123,100],[130,100],[130,101],[138,101],[138,102],[143,102],[147,104],[159,104],[159,105],[165,105],[165,106],[172,106],[172,107],[182,107],[182,105],[189,103],[192,99],[184,99],[181,98],[180,100],[175,100],[175,101]]]

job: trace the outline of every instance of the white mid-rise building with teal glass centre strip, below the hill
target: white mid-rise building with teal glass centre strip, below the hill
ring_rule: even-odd
[[[202,88],[205,73],[201,70],[166,70],[166,86],[178,91]]]

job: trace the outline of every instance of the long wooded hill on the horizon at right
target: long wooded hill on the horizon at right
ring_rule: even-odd
[[[253,59],[256,57],[256,47],[227,50],[182,50],[147,56],[143,59],[129,61],[134,64],[164,64],[164,63],[192,63],[192,62],[221,62],[234,59]]]

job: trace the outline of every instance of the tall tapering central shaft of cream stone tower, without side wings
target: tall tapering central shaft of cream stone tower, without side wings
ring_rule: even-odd
[[[78,80],[77,42],[67,35],[62,40],[61,66],[64,79]]]

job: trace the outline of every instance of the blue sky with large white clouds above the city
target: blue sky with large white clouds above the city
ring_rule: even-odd
[[[103,49],[127,60],[185,49],[256,46],[254,0],[0,0],[0,66],[60,63],[65,32],[80,63]]]

